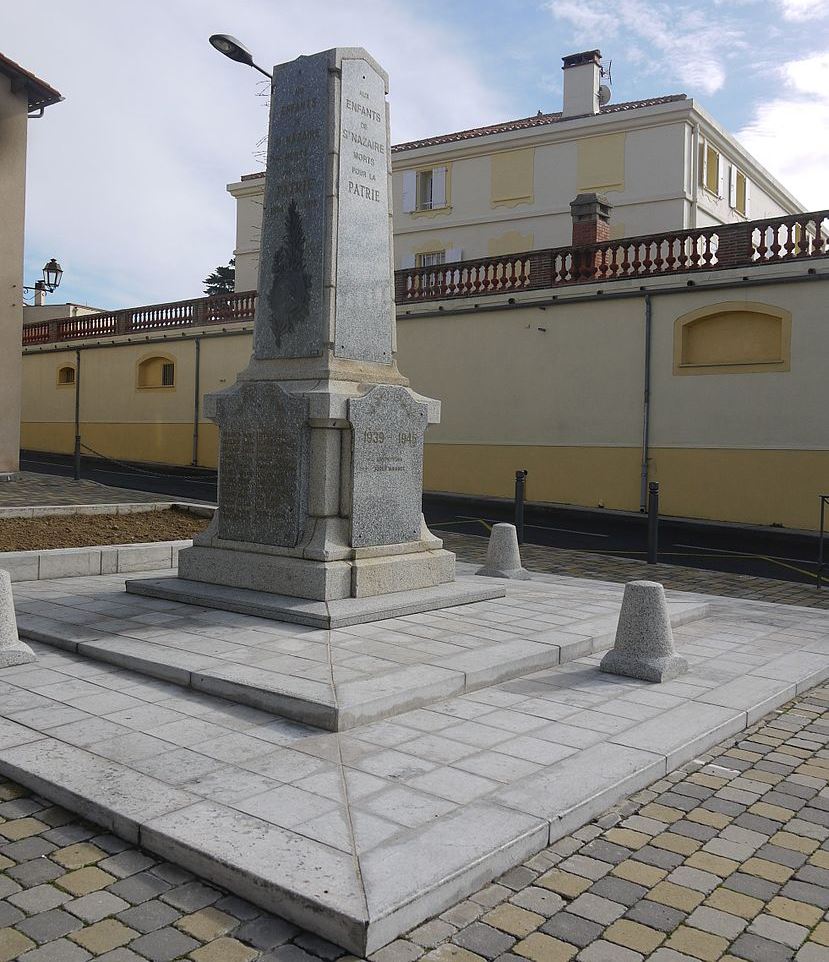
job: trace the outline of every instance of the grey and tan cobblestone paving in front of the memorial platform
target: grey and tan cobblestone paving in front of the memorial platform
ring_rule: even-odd
[[[829,686],[560,839],[373,962],[826,962]],[[352,962],[12,782],[0,962]]]

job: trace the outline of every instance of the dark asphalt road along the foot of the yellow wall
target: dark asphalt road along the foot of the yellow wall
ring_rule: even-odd
[[[61,455],[28,453],[21,458],[21,467],[72,476],[72,459]],[[216,501],[215,471],[181,468],[161,472],[85,458],[82,476],[118,488]],[[486,535],[494,523],[513,520],[511,504],[439,495],[424,495],[423,510],[430,527],[465,534]],[[640,514],[532,506],[524,514],[524,540],[531,544],[642,560],[646,539],[646,518]],[[817,552],[817,537],[797,532],[671,518],[661,519],[659,525],[659,560],[692,568],[814,584]]]

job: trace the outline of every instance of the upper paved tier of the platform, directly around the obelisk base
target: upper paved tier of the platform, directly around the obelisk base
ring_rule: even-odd
[[[493,585],[501,597],[468,603]],[[403,608],[396,618],[330,631],[171,603],[155,589],[126,594],[123,576],[18,584],[15,597],[26,638],[330,731],[601,651],[612,644],[621,603],[618,585],[584,582],[467,576],[449,588],[465,603],[428,614]],[[389,598],[379,601],[388,606]],[[707,610],[685,595],[671,605],[676,625]]]

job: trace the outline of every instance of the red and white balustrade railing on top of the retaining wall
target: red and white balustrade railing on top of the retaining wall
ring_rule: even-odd
[[[398,304],[829,256],[829,210],[395,271]],[[37,321],[23,346],[253,320],[256,291]]]

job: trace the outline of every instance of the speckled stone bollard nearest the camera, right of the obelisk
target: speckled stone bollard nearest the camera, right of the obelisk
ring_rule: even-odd
[[[674,649],[665,590],[657,581],[625,585],[616,641],[602,658],[602,671],[642,681],[670,681],[688,670]]]

